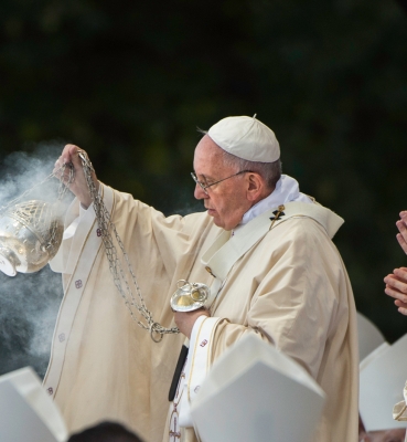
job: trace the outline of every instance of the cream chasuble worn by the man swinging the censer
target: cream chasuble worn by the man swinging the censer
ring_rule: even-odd
[[[315,442],[356,440],[355,307],[345,267],[331,241],[338,217],[313,203],[303,206],[315,213],[303,213],[299,206],[294,211],[292,203],[296,213],[290,217],[290,203],[285,203],[286,219],[276,220],[271,230],[272,221],[265,215],[260,232],[259,215],[229,238],[206,212],[165,218],[129,194],[106,186],[103,191],[106,204],[111,196],[113,221],[156,322],[174,326],[170,298],[179,280],[212,286],[216,295],[212,318],[203,320],[211,329],[206,369],[242,336],[256,334],[299,362],[326,392]],[[52,388],[71,432],[109,419],[146,441],[169,441],[168,391],[184,339],[165,335],[154,344],[130,318],[109,273],[93,210],[87,212],[58,253],[65,295],[45,387]],[[78,213],[76,201],[67,228]],[[250,238],[253,244],[247,246],[245,240],[243,245],[239,236]],[[218,238],[223,245],[204,257]],[[232,264],[224,260],[229,254]],[[200,335],[196,356],[206,346],[201,347],[206,338],[200,340]],[[192,366],[185,378],[191,399],[201,380],[194,382]],[[196,440],[192,427],[180,432],[183,442]]]

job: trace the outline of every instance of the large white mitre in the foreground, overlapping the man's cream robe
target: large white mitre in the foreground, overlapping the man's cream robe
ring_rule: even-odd
[[[215,360],[191,414],[202,442],[311,442],[324,400],[298,362],[248,334]]]

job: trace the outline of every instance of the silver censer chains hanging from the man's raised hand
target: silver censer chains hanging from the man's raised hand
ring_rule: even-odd
[[[105,246],[105,252],[106,252],[106,257],[109,262],[109,270],[110,273],[114,277],[114,282],[116,285],[116,288],[120,293],[121,297],[125,301],[125,305],[128,308],[131,318],[143,329],[150,332],[150,336],[154,343],[160,343],[163,335],[165,334],[178,334],[180,330],[176,327],[171,327],[171,328],[165,328],[159,323],[156,323],[152,318],[151,312],[146,307],[144,299],[141,295],[141,291],[139,287],[139,284],[136,278],[136,274],[132,270],[130,260],[128,254],[126,253],[125,245],[121,242],[121,239],[116,230],[116,227],[114,222],[110,219],[110,213],[107,211],[105,203],[103,201],[103,198],[100,197],[99,192],[96,189],[95,182],[92,178],[92,172],[94,171],[94,168],[92,166],[92,162],[89,161],[86,152],[83,150],[79,151],[79,157],[82,159],[82,165],[86,178],[86,183],[90,193],[90,198],[94,203],[94,209],[96,213],[96,219],[97,223],[99,227],[99,232],[101,235],[101,240]],[[126,278],[125,275],[125,270],[122,269],[121,262],[117,255],[117,250],[114,244],[113,235],[110,233],[113,232],[117,244],[120,248],[120,251],[122,253],[122,256],[125,257],[126,261],[126,266],[128,272],[131,275],[131,282],[133,287],[136,288],[137,297],[138,301],[136,299],[133,292],[130,287],[129,282]],[[135,315],[133,308],[137,309],[137,312],[140,314],[140,316],[143,318],[143,320],[138,319]],[[159,338],[157,338],[157,335],[160,335]]]

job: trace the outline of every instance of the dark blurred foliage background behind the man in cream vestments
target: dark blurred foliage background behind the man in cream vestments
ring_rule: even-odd
[[[0,25],[0,164],[73,141],[103,181],[184,212],[200,207],[189,176],[196,126],[257,113],[283,171],[345,219],[335,243],[357,308],[390,341],[407,332],[383,293],[383,277],[406,265],[395,240],[406,208],[404,1],[4,0]],[[19,275],[15,286],[41,277],[57,275]],[[11,303],[0,286],[0,308],[17,316],[0,324],[0,371],[43,373],[21,315],[35,294],[19,293]],[[56,314],[61,291],[46,296]]]

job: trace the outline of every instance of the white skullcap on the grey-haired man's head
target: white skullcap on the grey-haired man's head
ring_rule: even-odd
[[[222,149],[248,161],[274,162],[280,158],[275,133],[254,117],[227,117],[213,125],[207,135]]]

